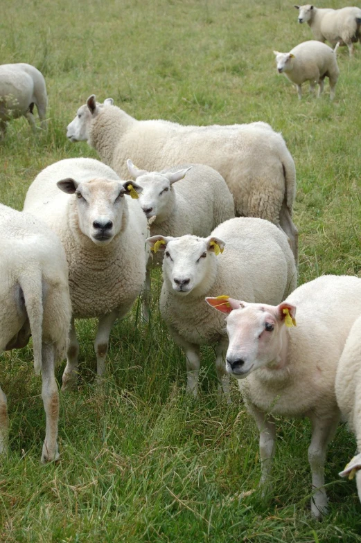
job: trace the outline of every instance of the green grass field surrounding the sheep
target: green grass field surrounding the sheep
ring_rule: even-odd
[[[299,103],[272,51],[310,37],[285,0],[6,1],[0,62],[42,71],[49,130],[35,139],[24,118],[10,124],[0,143],[0,201],[21,209],[39,170],[65,157],[96,157],[65,136],[92,93],[139,119],[266,121],[282,131],[297,167],[300,283],[326,273],[361,276],[361,48],[351,62],[346,48],[337,53],[334,103],[328,84],[319,100],[305,88]],[[155,275],[155,292],[159,281]],[[134,308],[114,327],[108,377],[97,389],[94,327],[78,323],[80,386],[60,398],[57,465],[39,463],[44,410],[30,348],[0,357],[10,417],[1,542],[361,542],[355,483],[337,476],[355,451],[346,427],[328,451],[330,513],[317,523],[307,421],[280,420],[274,497],[263,501],[258,432],[236,384],[230,406],[218,400],[213,350],[203,350],[201,394],[192,400],[184,394],[184,356],[157,305],[150,326]]]

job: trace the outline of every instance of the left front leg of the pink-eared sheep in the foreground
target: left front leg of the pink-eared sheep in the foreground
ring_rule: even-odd
[[[271,490],[271,471],[274,451],[276,449],[276,424],[271,415],[260,411],[254,404],[249,404],[248,409],[254,416],[259,431],[259,455],[261,458],[262,495],[265,496]]]

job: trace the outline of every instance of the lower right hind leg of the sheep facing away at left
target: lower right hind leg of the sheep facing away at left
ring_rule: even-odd
[[[54,375],[55,346],[42,344],[42,399],[46,413],[46,434],[42,450],[42,463],[59,459],[58,420],[59,393]]]

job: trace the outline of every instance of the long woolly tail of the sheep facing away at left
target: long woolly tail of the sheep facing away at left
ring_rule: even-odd
[[[42,369],[42,272],[37,270],[35,274],[24,274],[21,276],[19,283],[24,292],[26,313],[28,314],[31,335],[33,336],[34,371],[35,375],[39,375]]]

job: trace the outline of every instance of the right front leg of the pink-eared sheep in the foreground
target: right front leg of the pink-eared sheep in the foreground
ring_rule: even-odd
[[[316,519],[321,519],[322,515],[327,513],[327,496],[324,489],[326,449],[335,435],[340,420],[338,413],[333,414],[332,418],[327,419],[317,418],[315,415],[310,417],[312,438],[308,447],[308,462],[312,474],[312,487],[316,489],[311,498],[311,513]]]

